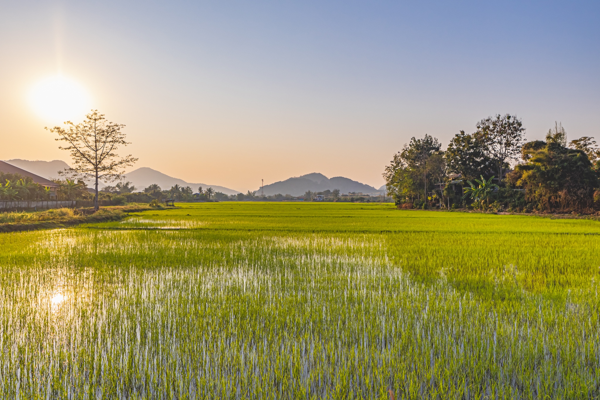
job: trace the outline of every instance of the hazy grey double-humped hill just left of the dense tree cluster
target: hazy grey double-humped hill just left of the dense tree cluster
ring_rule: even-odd
[[[327,178],[321,173],[310,173],[307,175],[289,178],[285,181],[275,182],[265,185],[263,191],[265,196],[274,194],[291,194],[292,196],[302,196],[306,191],[322,192],[324,190],[339,189],[340,193],[377,193],[378,190],[372,186],[361,184],[361,182],[352,181],[352,179],[343,176]],[[256,192],[260,193],[260,188]]]

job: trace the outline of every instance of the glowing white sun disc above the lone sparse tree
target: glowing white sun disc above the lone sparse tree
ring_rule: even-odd
[[[82,120],[89,112],[89,95],[79,83],[62,75],[40,80],[29,92],[29,103],[38,116],[52,123]]]

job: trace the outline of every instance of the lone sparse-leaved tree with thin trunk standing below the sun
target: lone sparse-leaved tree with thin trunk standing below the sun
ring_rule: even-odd
[[[98,210],[98,179],[114,182],[121,178],[125,167],[137,161],[131,154],[125,157],[116,154],[119,146],[130,144],[125,142],[125,134],[121,132],[125,125],[107,122],[98,110],[92,110],[81,124],[67,121],[65,125],[66,129],[56,126],[50,132],[58,134],[56,140],[67,142],[67,146],[59,146],[59,149],[71,152],[74,166],[68,172],[95,180],[94,210]]]

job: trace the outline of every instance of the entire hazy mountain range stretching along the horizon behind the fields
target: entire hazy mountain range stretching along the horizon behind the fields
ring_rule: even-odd
[[[53,161],[29,161],[20,160],[15,158],[13,160],[7,160],[8,164],[22,168],[26,171],[32,172],[35,175],[42,176],[43,178],[56,179],[60,178],[58,171],[62,171],[65,168],[69,168],[69,165],[62,160]],[[193,184],[185,182],[183,179],[173,178],[172,176],[166,175],[160,171],[153,170],[148,167],[138,168],[125,174],[124,181],[131,182],[137,190],[143,190],[152,184],[157,184],[163,190],[170,189],[173,185],[189,186],[194,192],[198,190],[198,187],[206,189],[212,187],[215,191],[224,194],[238,194],[240,191],[233,190],[218,185],[207,185],[207,184]],[[110,184],[114,185],[114,184]],[[98,185],[100,188],[106,186],[103,182]],[[376,189],[370,185],[362,184],[361,182],[352,181],[352,179],[344,178],[343,176],[335,176],[334,178],[327,178],[321,173],[310,173],[294,178],[286,179],[285,181],[275,182],[274,184],[265,185],[263,191],[265,196],[272,196],[273,194],[290,194],[292,196],[302,196],[306,191],[320,192],[325,190],[339,189],[340,193],[379,193],[385,190],[385,185],[379,189]],[[256,191],[260,194],[260,188]]]

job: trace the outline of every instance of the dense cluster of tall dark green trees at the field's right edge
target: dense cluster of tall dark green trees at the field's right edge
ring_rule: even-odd
[[[590,212],[600,206],[600,151],[593,137],[567,142],[555,123],[527,142],[514,115],[482,119],[442,150],[431,135],[412,137],[386,166],[389,196],[403,208],[509,212]]]

